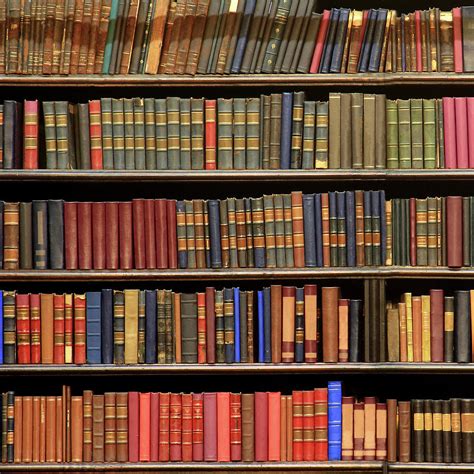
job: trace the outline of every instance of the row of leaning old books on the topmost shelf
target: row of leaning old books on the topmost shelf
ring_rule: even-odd
[[[314,0],[53,0],[0,10],[0,74],[473,70],[472,7],[314,11]]]

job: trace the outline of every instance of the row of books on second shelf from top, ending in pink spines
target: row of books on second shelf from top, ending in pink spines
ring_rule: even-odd
[[[474,168],[474,97],[304,92],[0,105],[3,169]],[[44,136],[43,136],[44,135]]]

